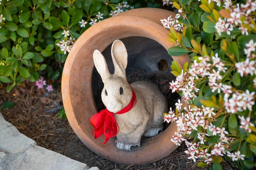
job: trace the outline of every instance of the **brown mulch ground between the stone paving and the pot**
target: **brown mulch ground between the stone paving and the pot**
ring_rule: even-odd
[[[161,77],[163,79],[163,77]],[[167,85],[165,82],[163,84]],[[99,167],[100,170],[199,170],[197,163],[187,159],[184,143],[164,159],[144,166],[135,164],[126,166],[108,161],[89,150],[76,136],[67,119],[58,118],[55,111],[56,102],[62,104],[60,85],[55,93],[48,94],[38,90],[35,83],[25,82],[15,87],[9,94],[0,88],[0,105],[12,101],[15,107],[1,109],[4,118],[17,129],[35,140],[38,145],[49,150],[61,153],[71,159],[86,163],[88,166]],[[167,91],[167,90],[166,90]],[[167,92],[166,92],[167,93]],[[46,109],[46,110],[45,110]],[[224,169],[233,169],[223,162]]]

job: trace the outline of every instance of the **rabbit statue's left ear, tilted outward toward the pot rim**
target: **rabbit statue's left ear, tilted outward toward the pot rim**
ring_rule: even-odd
[[[105,83],[106,79],[110,77],[110,73],[108,71],[108,65],[105,58],[98,50],[95,50],[93,52],[93,61],[97,71],[102,77],[103,83]]]

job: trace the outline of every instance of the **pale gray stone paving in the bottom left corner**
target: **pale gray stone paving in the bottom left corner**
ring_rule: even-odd
[[[0,113],[0,170],[99,170],[37,146]]]

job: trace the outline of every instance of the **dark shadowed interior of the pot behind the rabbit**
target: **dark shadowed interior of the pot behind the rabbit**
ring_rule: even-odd
[[[158,85],[158,88],[166,96],[168,108],[175,110],[175,103],[180,99],[180,95],[172,93],[169,89],[169,82],[175,80],[176,77],[170,73],[172,57],[167,50],[157,41],[146,37],[127,37],[121,39],[125,44],[128,52],[128,65],[126,68],[127,81],[129,83],[135,81],[150,81]],[[112,45],[112,44],[111,44]],[[114,66],[111,58],[111,45],[103,52],[103,56],[108,64],[111,74],[114,73]],[[93,97],[98,111],[105,109],[105,105],[101,99],[101,92],[104,88],[102,79],[94,67],[92,75]],[[165,130],[169,124],[164,123]]]

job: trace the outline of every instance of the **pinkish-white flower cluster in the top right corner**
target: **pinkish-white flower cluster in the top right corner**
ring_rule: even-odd
[[[253,28],[251,13],[256,10],[256,3],[252,0],[247,0],[246,4],[233,5],[231,0],[212,0],[217,3],[217,6],[223,6],[230,10],[230,14],[223,19],[220,17],[215,25],[216,31],[219,35],[222,32],[230,35],[230,31],[233,31],[235,27],[239,28],[241,33],[248,35],[248,29]],[[211,0],[209,0],[209,3]],[[226,18],[227,17],[227,18]],[[247,27],[248,25],[248,27]]]

